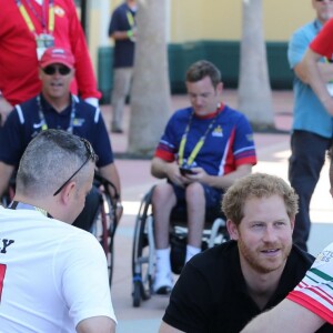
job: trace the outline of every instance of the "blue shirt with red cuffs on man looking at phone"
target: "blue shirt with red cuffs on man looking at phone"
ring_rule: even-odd
[[[188,160],[215,118],[191,167],[201,167],[211,175],[224,175],[239,165],[256,163],[253,132],[244,114],[228,105],[222,105],[218,113],[200,118],[194,114],[190,120],[192,112],[192,108],[186,108],[173,113],[158,144],[155,157],[168,162],[178,160],[182,137],[191,122],[184,147],[184,160]]]

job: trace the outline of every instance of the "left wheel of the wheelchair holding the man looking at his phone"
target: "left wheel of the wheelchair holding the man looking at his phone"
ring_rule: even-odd
[[[152,248],[152,213],[150,191],[142,200],[134,228],[134,241],[132,250],[132,274],[133,274],[133,306],[140,306],[141,300],[145,301],[151,296],[153,259]]]

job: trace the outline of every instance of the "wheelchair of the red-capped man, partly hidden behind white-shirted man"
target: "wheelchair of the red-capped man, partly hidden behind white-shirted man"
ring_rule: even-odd
[[[114,259],[114,234],[118,226],[118,200],[119,193],[115,186],[100,175],[94,173],[93,185],[97,189],[98,200],[94,210],[90,232],[98,239],[104,250],[108,261],[109,284],[111,287]],[[10,179],[9,186],[1,198],[1,204],[8,206],[14,196],[16,179]]]

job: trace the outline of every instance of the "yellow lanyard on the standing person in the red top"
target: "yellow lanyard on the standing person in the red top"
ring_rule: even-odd
[[[42,16],[38,14],[36,9],[33,8],[33,6],[30,3],[30,0],[26,0],[28,6],[29,6],[29,9],[32,11],[33,16],[40,21],[42,28],[43,28],[43,31],[46,31],[46,27],[47,27],[47,20],[46,20],[46,9],[44,9],[44,2],[42,4]],[[24,7],[24,4],[22,3],[21,0],[16,0],[17,2],[17,6],[21,12],[21,16],[23,17],[29,30],[36,34],[36,28],[32,23],[32,20]],[[54,6],[53,6],[53,0],[50,0],[49,1],[49,33],[52,34],[52,32],[54,31]]]

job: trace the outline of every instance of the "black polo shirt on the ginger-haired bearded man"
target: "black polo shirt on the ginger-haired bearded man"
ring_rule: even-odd
[[[293,246],[275,293],[260,310],[248,293],[236,242],[223,243],[185,265],[171,293],[163,321],[184,332],[238,333],[255,315],[280,303],[313,261],[311,254]]]

